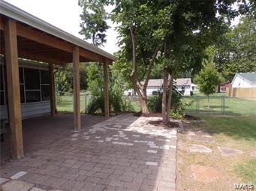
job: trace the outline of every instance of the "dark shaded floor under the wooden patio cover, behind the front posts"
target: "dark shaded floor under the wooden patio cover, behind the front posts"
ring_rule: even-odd
[[[81,115],[81,129],[88,129],[94,124],[104,121],[104,116]],[[56,114],[53,117],[44,115],[36,118],[27,118],[23,124],[23,150],[26,156],[39,151],[54,142],[59,142],[65,137],[71,136],[74,130],[74,115]],[[8,162],[11,157],[10,132],[5,135],[2,142],[0,165]]]

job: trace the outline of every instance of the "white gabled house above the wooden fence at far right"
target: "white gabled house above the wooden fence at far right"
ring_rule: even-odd
[[[256,88],[256,73],[236,73],[231,85],[232,88]]]

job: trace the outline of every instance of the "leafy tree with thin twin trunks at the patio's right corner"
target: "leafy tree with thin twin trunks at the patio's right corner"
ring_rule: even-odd
[[[163,45],[163,121],[170,118],[173,79],[180,72],[198,71],[204,49],[226,30],[225,22],[237,15],[234,1],[162,1],[158,31]],[[169,83],[168,83],[169,82]],[[169,96],[167,98],[167,85]],[[167,101],[166,101],[167,100]]]

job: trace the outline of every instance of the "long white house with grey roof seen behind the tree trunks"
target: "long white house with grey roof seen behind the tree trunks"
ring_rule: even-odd
[[[146,95],[151,96],[163,89],[163,79],[149,79],[146,88]],[[144,82],[141,82],[142,84]],[[191,78],[174,79],[174,85],[177,91],[183,92],[184,95],[190,95],[190,91],[197,91],[197,85],[191,83]],[[134,90],[129,89],[124,92],[125,96],[136,96]]]

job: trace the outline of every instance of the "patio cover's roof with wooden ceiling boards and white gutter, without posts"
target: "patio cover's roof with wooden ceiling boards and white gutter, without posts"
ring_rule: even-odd
[[[18,7],[0,0],[0,29],[4,30],[5,18],[17,22],[18,55],[51,64],[72,62],[74,46],[79,46],[80,62],[101,61],[110,64],[116,58],[108,52],[86,43],[65,31],[50,25]],[[0,53],[4,54],[3,32],[0,35]]]

